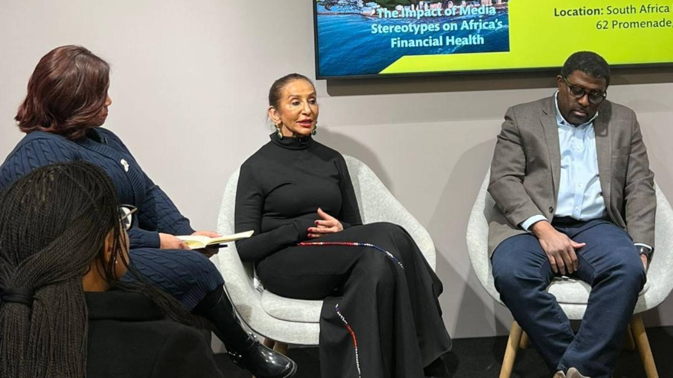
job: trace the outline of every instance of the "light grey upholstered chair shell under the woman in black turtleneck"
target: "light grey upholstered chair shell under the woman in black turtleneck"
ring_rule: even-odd
[[[367,165],[354,157],[344,155],[344,158],[363,223],[385,221],[404,227],[434,269],[435,245],[423,226],[390,194]],[[234,233],[238,174],[237,169],[229,178],[222,198],[217,221],[217,231],[222,234]],[[289,299],[267,290],[258,290],[252,266],[241,262],[234,243],[214,256],[213,262],[225,278],[227,293],[236,305],[238,314],[254,332],[285,344],[318,344],[322,301]]]

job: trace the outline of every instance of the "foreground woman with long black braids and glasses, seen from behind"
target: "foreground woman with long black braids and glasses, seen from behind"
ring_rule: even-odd
[[[221,377],[192,315],[130,268],[134,210],[83,161],[0,192],[0,377]]]

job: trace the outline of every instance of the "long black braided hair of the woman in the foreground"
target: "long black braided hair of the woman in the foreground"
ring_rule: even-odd
[[[180,303],[149,287],[129,266],[117,206],[110,178],[85,161],[40,167],[0,193],[0,288],[33,297],[32,305],[0,302],[0,377],[85,377],[82,277],[97,258],[112,287],[145,293],[172,319],[194,324]],[[112,255],[106,263],[110,230]],[[135,283],[117,280],[116,259],[129,267]]]

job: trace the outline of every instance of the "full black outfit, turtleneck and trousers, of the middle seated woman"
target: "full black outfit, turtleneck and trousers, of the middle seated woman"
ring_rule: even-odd
[[[308,239],[318,207],[344,231]],[[439,278],[402,227],[362,225],[340,153],[272,134],[241,167],[235,221],[237,232],[255,231],[236,247],[267,289],[324,299],[322,378],[424,377],[450,349]]]

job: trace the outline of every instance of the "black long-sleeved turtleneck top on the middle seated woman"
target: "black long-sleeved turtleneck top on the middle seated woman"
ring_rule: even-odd
[[[344,229],[361,225],[355,191],[341,153],[311,137],[279,139],[262,146],[243,163],[236,190],[236,241],[243,261],[257,262],[308,239],[320,219],[318,207]]]

